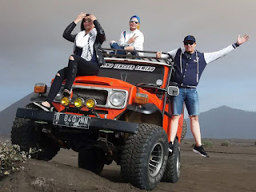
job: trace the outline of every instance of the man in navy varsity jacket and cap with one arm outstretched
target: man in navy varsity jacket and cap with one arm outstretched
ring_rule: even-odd
[[[179,88],[178,96],[172,96],[170,98],[172,107],[172,118],[170,120],[170,127],[172,127],[170,130],[170,152],[174,150],[174,139],[178,131],[178,120],[182,114],[183,103],[185,102],[187,112],[190,116],[191,132],[196,143],[193,151],[203,157],[209,157],[202,147],[198,122],[199,100],[196,89],[198,82],[207,64],[220,57],[226,56],[226,54],[230,53],[244,42],[249,41],[249,39],[250,36],[248,34],[245,34],[243,37],[239,35],[237,42],[227,46],[225,49],[214,53],[200,53],[195,49],[197,43],[194,36],[188,35],[183,41],[185,49],[179,48],[168,52],[169,57],[174,60],[174,75],[171,77],[171,82],[176,84]],[[158,52],[156,57],[163,58],[168,56]]]

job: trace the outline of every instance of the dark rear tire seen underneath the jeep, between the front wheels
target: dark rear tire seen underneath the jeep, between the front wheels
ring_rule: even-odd
[[[84,148],[78,152],[78,167],[101,174],[104,167],[105,154],[100,148]]]

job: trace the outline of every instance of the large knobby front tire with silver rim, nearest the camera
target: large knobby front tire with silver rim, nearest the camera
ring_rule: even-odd
[[[166,131],[157,125],[142,123],[123,147],[122,178],[140,189],[153,190],[161,181],[167,158]]]

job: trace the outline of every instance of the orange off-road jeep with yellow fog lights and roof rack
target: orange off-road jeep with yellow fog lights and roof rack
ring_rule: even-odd
[[[35,148],[32,158],[46,161],[61,147],[72,149],[78,152],[78,167],[96,174],[115,161],[124,181],[140,189],[152,190],[161,180],[177,182],[186,126],[182,115],[170,154],[168,95],[178,94],[170,86],[172,62],[157,59],[156,52],[140,57],[116,50],[103,50],[106,65],[98,76],[75,78],[70,98],[62,96],[62,86],[51,112],[33,103],[18,108],[12,143],[23,151]],[[46,100],[45,84],[36,84],[34,92],[31,101]]]

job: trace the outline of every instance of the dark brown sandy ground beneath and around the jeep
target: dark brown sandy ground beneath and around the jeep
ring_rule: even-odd
[[[177,183],[160,182],[153,192],[256,191],[256,145],[254,140],[211,140],[210,158],[192,151],[192,140],[182,142],[181,177]],[[25,170],[0,178],[0,191],[145,191],[123,183],[120,167],[105,166],[101,176],[78,168],[78,154],[61,150],[50,162],[30,159]]]

